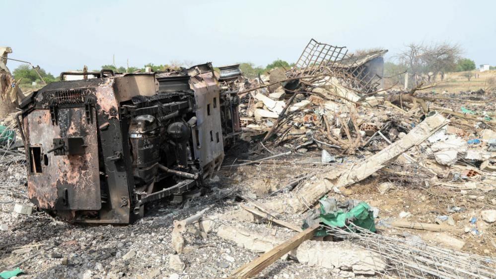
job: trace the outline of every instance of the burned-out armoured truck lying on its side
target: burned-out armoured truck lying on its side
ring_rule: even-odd
[[[64,81],[73,74],[95,78]],[[224,127],[239,127],[237,104],[221,100],[210,63],[64,72],[20,107],[29,199],[78,223],[131,223],[151,202],[199,195],[233,137]]]

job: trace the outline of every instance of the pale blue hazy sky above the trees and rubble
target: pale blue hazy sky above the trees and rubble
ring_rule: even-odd
[[[448,41],[496,65],[496,1],[0,0],[0,45],[58,75],[111,64],[295,62],[310,38],[351,51]],[[13,70],[19,64],[9,61]]]

